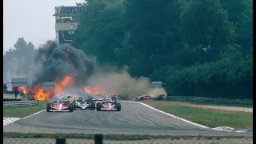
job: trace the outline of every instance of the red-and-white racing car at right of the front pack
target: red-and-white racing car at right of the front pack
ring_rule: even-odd
[[[121,104],[114,101],[102,101],[96,104],[97,111],[121,111]]]

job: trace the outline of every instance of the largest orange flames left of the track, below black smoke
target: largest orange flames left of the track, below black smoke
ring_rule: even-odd
[[[34,98],[38,101],[46,101],[49,100],[50,97],[54,94],[62,94],[66,87],[72,86],[74,83],[74,78],[66,75],[61,81],[55,82],[54,88],[50,90],[43,90],[41,88],[41,84],[35,86],[33,89]]]

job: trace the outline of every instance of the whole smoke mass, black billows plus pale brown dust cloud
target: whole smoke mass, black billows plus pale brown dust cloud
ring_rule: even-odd
[[[115,72],[113,66],[98,67],[95,60],[86,57],[82,50],[70,45],[58,45],[54,41],[39,47],[34,64],[39,66],[34,75],[34,85],[58,81],[69,75],[76,79],[73,90],[97,84],[106,94],[122,95],[125,99],[142,94],[166,94],[162,88],[152,88],[149,78],[131,78],[126,70]]]

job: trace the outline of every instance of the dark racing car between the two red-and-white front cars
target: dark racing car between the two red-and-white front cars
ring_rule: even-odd
[[[76,110],[76,109],[95,110],[95,107],[96,107],[95,102],[90,101],[90,100],[86,100],[86,99],[82,99],[82,98],[75,99],[75,101],[71,102],[71,104],[74,106],[74,110]]]

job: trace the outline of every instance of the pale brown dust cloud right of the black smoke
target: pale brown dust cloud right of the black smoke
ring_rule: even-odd
[[[126,100],[133,99],[142,94],[152,94],[154,96],[166,94],[162,87],[152,87],[149,78],[132,78],[126,70],[118,73],[112,71],[96,74],[95,77],[89,80],[90,83],[98,83],[102,86],[106,93],[122,95],[122,98]]]

